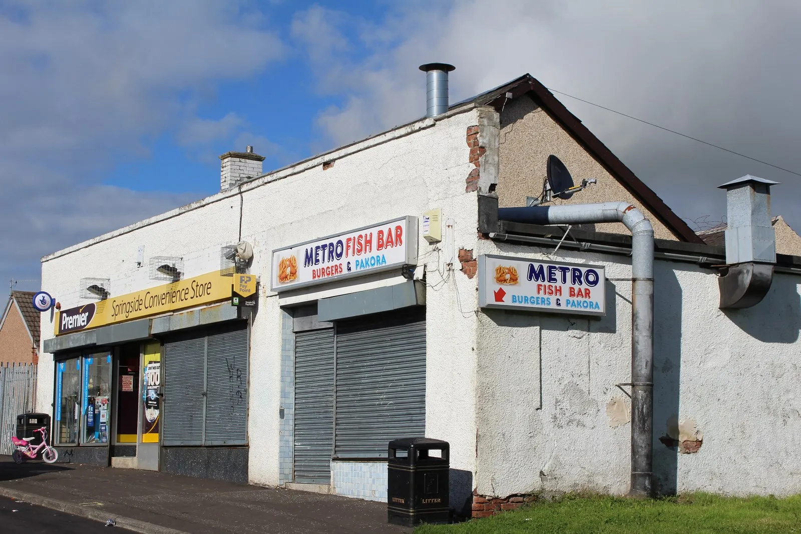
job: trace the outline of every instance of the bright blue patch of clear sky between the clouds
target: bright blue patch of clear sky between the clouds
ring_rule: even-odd
[[[336,11],[339,14],[336,28],[348,42],[358,42],[358,29],[365,24],[378,26],[388,13],[390,2],[347,2],[347,12],[341,10],[343,2],[254,2],[252,8],[268,14],[265,30],[275,30],[286,44],[284,56],[275,65],[256,74],[230,82],[220,82],[202,90],[187,89],[177,98],[193,106],[197,118],[219,121],[235,116],[231,135],[195,143],[186,147],[179,131],[167,128],[157,135],[143,138],[147,155],[131,155],[114,167],[103,171],[103,182],[113,186],[130,187],[135,191],[167,191],[182,193],[197,191],[204,195],[215,193],[218,185],[213,179],[219,167],[218,155],[227,151],[244,151],[244,146],[231,142],[244,140],[269,145],[258,146],[256,151],[267,157],[264,169],[284,167],[305,159],[316,151],[329,148],[322,139],[315,119],[320,110],[339,106],[343,94],[320,90],[310,68],[304,43],[292,32],[292,23],[310,8]],[[360,46],[347,46],[344,53],[352,61],[360,62],[370,50]],[[252,50],[259,54],[259,50]],[[240,137],[241,133],[245,133]],[[171,179],[165,180],[169,175]]]

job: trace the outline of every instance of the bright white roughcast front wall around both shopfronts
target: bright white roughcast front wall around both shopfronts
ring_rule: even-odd
[[[252,273],[261,279],[248,384],[249,479],[252,484],[278,484],[280,305],[405,279],[383,275],[332,283],[279,302],[269,291],[271,251],[401,215],[421,216],[434,207],[442,209],[443,219],[454,220],[457,250],[473,248],[477,201],[474,192],[465,191],[465,179],[474,168],[465,136],[477,121],[477,110],[471,107],[436,122],[425,118],[56,252],[42,259],[42,287],[68,308],[86,302],[78,298],[78,279],[84,276],[111,279],[113,295],[163,283],[148,279],[147,259],[152,256],[182,257],[186,278],[215,271],[219,248],[239,241],[241,205],[241,239],[252,243]],[[143,267],[136,266],[140,246],[145,249]],[[471,392],[476,365],[470,340],[475,339],[475,283],[445,270],[444,254],[436,250],[439,246],[419,239],[418,247],[429,280],[437,286],[429,287],[426,306],[426,435],[448,440],[453,468],[473,473],[476,438]],[[460,301],[464,313],[457,305]],[[53,324],[42,317],[42,339],[49,339]],[[45,411],[52,409],[53,383],[53,359],[45,354],[39,364],[38,388],[38,406]]]

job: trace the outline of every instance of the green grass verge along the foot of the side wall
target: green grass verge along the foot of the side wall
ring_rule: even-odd
[[[415,534],[801,533],[801,496],[723,497],[690,493],[662,499],[564,496],[461,524],[422,525]]]

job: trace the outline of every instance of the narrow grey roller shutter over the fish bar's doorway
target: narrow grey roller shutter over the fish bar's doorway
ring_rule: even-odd
[[[334,330],[295,334],[295,481],[331,480]]]

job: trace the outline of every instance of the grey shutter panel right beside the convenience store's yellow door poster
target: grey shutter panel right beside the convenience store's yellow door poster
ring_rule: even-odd
[[[163,445],[203,444],[206,336],[164,343]]]

